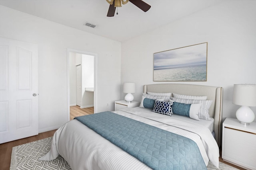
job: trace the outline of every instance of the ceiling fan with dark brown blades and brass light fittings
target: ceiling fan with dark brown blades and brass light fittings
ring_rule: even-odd
[[[146,2],[143,2],[142,0],[106,0],[110,6],[108,8],[108,17],[113,17],[115,15],[116,7],[122,7],[122,4],[126,4],[127,2],[132,2],[135,6],[140,8],[142,11],[147,12],[150,9],[150,5],[148,5]],[[117,13],[118,14],[118,13]]]

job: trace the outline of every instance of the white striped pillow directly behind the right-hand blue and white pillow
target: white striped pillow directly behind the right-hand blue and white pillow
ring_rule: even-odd
[[[209,115],[209,108],[212,104],[212,100],[190,100],[190,99],[178,99],[171,97],[171,101],[184,103],[184,104],[198,104],[201,103],[202,106],[199,110],[198,117],[205,120],[211,120]]]

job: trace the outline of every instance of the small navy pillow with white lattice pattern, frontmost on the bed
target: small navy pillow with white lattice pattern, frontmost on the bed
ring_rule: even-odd
[[[173,102],[164,102],[164,101],[156,100],[154,104],[153,112],[171,116],[172,104]]]

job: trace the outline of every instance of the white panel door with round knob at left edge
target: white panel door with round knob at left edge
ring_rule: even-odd
[[[0,143],[38,135],[38,46],[0,37]]]

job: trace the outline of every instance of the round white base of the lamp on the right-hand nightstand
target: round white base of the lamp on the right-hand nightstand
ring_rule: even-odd
[[[250,107],[241,106],[236,111],[236,118],[240,121],[240,123],[250,125],[250,123],[254,121],[255,115]]]

